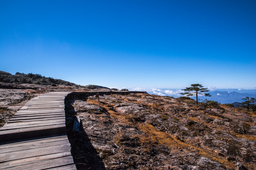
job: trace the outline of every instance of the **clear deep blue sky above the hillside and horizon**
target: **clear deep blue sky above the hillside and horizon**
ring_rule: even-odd
[[[0,70],[76,84],[256,87],[256,0],[0,0]]]

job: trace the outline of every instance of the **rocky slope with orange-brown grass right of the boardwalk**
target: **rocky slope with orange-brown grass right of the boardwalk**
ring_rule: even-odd
[[[72,131],[76,116],[79,132]],[[255,170],[255,116],[149,94],[66,101],[72,154],[82,170]]]

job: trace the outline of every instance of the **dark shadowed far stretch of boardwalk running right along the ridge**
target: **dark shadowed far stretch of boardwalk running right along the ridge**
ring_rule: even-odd
[[[101,96],[105,95],[111,95],[111,94],[120,94],[120,95],[128,95],[130,93],[143,93],[147,94],[146,92],[139,92],[139,91],[123,91],[123,92],[118,92],[118,91],[109,91],[109,92],[72,92],[69,93],[65,99],[85,99],[88,98],[89,96],[94,96],[97,93],[99,93]]]

